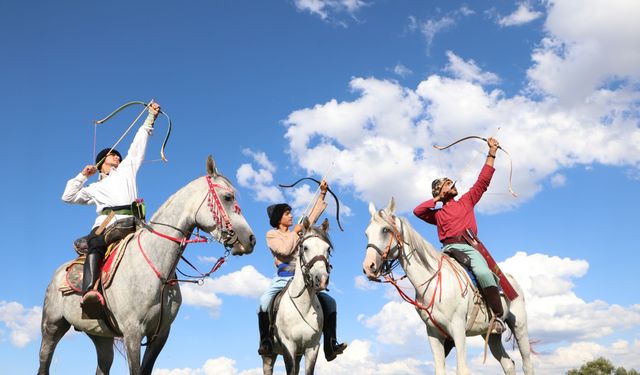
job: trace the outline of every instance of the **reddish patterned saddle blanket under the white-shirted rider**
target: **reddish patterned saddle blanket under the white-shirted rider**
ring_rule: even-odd
[[[135,233],[131,233],[121,241],[109,245],[101,268],[100,281],[102,283],[102,290],[107,289],[111,285],[113,275],[115,275],[120,265],[127,244],[134,235]],[[84,273],[85,258],[85,255],[81,255],[67,267],[64,281],[62,285],[58,287],[58,290],[61,291],[62,294],[67,295],[82,292],[82,276]]]

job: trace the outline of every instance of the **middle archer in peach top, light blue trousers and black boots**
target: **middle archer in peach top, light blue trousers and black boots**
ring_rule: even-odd
[[[308,216],[310,225],[313,225],[322,212],[327,207],[324,198],[329,186],[322,180],[320,183],[320,194],[314,203]],[[276,294],[282,290],[289,280],[293,278],[294,270],[288,267],[296,254],[296,245],[299,235],[303,230],[302,225],[296,224],[293,230],[289,228],[293,225],[293,215],[291,206],[287,203],[274,204],[267,207],[269,224],[274,229],[267,232],[267,246],[274,257],[275,266],[278,269],[277,276],[271,280],[269,289],[260,297],[258,306],[258,327],[260,329],[260,348],[258,354],[270,355],[273,352],[273,343],[270,337],[269,304]],[[338,343],[336,335],[337,310],[336,301],[326,292],[318,293],[318,299],[322,306],[324,315],[324,355],[327,361],[332,361],[342,354],[347,348],[346,343]]]

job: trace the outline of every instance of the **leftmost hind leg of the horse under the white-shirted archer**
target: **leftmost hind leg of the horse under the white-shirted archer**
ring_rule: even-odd
[[[51,285],[49,285],[49,289]],[[42,311],[42,323],[40,329],[42,332],[42,342],[40,343],[40,368],[38,375],[49,373],[53,352],[56,345],[71,328],[71,324],[62,316],[62,297],[55,295],[57,291],[50,293],[47,289],[47,297],[44,301],[44,309]]]

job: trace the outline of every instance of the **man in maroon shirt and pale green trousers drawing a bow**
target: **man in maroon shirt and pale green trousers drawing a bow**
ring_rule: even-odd
[[[475,234],[478,233],[473,208],[482,198],[482,194],[487,191],[495,171],[493,162],[499,144],[494,138],[489,138],[487,144],[489,146],[487,160],[480,171],[478,180],[469,189],[469,192],[456,201],[454,198],[458,195],[458,190],[454,181],[446,177],[434,180],[431,184],[431,194],[434,198],[420,204],[413,210],[413,213],[427,223],[437,226],[438,238],[442,242],[443,252],[455,249],[464,252],[471,258],[471,270],[476,276],[487,303],[497,318],[496,320],[502,326],[496,325],[494,330],[496,333],[502,333],[504,323],[501,319],[504,311],[498,291],[498,280],[489,269],[482,254],[469,245],[462,236],[467,228]],[[438,202],[442,202],[441,208],[436,208]]]

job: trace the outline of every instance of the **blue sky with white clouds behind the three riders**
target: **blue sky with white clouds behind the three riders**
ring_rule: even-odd
[[[632,0],[0,2],[3,371],[35,372],[44,290],[93,222],[92,208],[60,200],[93,159],[93,120],[151,98],[174,132],[169,163],[154,162],[164,120],[147,149],[138,185],[148,209],[204,174],[211,153],[258,237],[253,254],[185,286],[157,374],[259,373],[255,308],[274,272],[265,208],[287,200],[300,212],[314,187],[276,186],[308,175],[328,175],[345,208],[331,293],[350,348],[318,371],[430,373],[417,314],[361,277],[367,204],[395,196],[437,242],[411,209],[443,174],[468,188],[486,146],[431,145],[471,134],[495,135],[513,158],[519,198],[508,194],[500,155],[478,222],[525,288],[537,372],[600,355],[640,369],[639,17]],[[98,128],[98,147],[134,112]],[[187,251],[202,268],[221,253],[214,244]],[[470,342],[472,372],[496,373]],[[90,341],[70,332],[52,372],[91,372],[94,358]],[[125,368],[117,357],[113,372]]]

